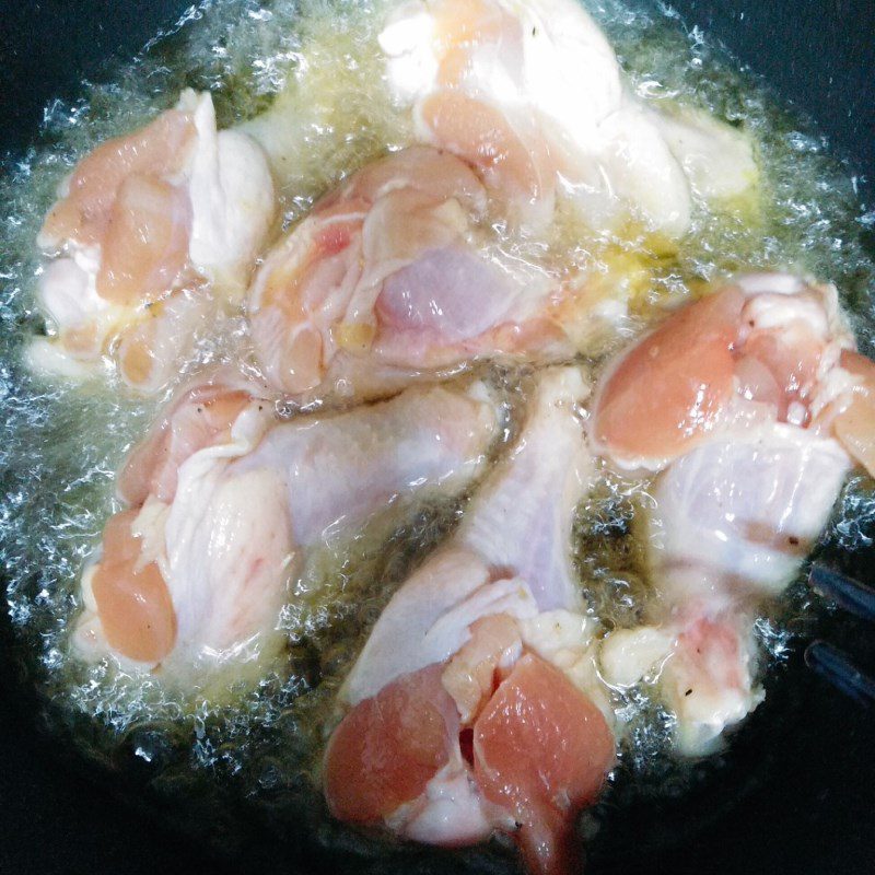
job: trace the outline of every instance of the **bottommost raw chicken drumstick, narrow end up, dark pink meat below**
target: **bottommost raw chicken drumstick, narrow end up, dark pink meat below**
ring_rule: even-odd
[[[451,847],[506,831],[533,871],[572,871],[615,754],[571,562],[586,392],[541,372],[513,451],[382,614],[325,755],[335,816]]]

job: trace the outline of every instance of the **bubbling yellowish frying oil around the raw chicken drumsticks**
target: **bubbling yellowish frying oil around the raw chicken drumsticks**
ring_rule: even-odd
[[[378,0],[206,0],[133,63],[118,68],[112,83],[83,88],[73,105],[52,104],[39,144],[9,164],[0,180],[0,550],[9,615],[66,740],[95,762],[136,775],[160,797],[178,797],[192,829],[202,830],[205,818],[223,824],[229,844],[244,841],[246,830],[267,830],[275,838],[337,845],[357,859],[388,853],[400,866],[407,860],[401,850],[387,850],[378,839],[353,840],[346,828],[326,824],[312,767],[332,693],[362,635],[415,558],[452,527],[464,501],[399,509],[352,545],[329,546],[313,558],[292,582],[296,599],[283,616],[288,655],[268,667],[255,689],[232,689],[222,701],[207,702],[132,678],[108,662],[86,666],[68,648],[80,607],[79,573],[114,509],[115,471],[154,402],[112,382],[49,383],[21,364],[23,339],[42,330],[34,238],[55,186],[95,143],[142,124],[173,103],[180,88],[211,90],[220,124],[247,122],[266,143],[282,183],[287,225],[342,175],[407,142],[407,122],[381,81],[375,36],[383,8]],[[632,294],[627,338],[722,273],[748,267],[807,271],[837,283],[861,346],[872,353],[875,262],[866,242],[875,217],[862,211],[855,182],[829,158],[827,143],[736,72],[705,35],[685,31],[670,8],[606,0],[590,9],[642,98],[707,108],[752,136],[762,197],[730,217],[697,214],[678,250],[643,238],[594,238],[570,215],[560,217],[547,240],[513,236],[495,222],[492,245],[548,268],[583,267],[610,282],[620,279]],[[597,359],[619,340],[582,338],[583,351]],[[241,345],[238,320],[211,326],[189,371],[233,359]],[[514,401],[524,399],[525,375],[491,370],[488,376],[513,412]],[[864,478],[851,482],[828,546],[872,544],[868,487]],[[648,501],[646,483],[605,476],[580,509],[582,585],[608,628],[631,625],[648,597],[631,525],[635,508]],[[773,617],[760,621],[767,668],[815,614],[796,587]],[[655,756],[665,751],[672,725],[649,690],[633,690],[618,709],[628,727],[618,782],[646,785],[656,796],[689,783],[689,770]],[[258,827],[243,826],[234,815],[242,804],[257,814]],[[468,851],[458,865],[487,865],[494,853],[501,855]],[[446,863],[441,854],[434,859]]]

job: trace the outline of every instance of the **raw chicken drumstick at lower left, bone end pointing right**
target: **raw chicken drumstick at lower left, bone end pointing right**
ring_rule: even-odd
[[[499,411],[483,386],[418,388],[278,421],[269,395],[215,375],[183,392],[119,480],[129,510],[83,575],[81,650],[183,684],[277,652],[308,547],[390,504],[476,477]]]

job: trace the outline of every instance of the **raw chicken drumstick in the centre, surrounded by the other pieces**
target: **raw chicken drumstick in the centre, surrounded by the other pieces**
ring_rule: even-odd
[[[572,357],[562,290],[488,255],[486,191],[446,152],[415,147],[345,182],[268,255],[248,313],[271,386],[300,398],[385,395],[505,357]]]

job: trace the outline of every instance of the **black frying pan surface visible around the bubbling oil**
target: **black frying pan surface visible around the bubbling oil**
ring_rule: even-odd
[[[130,57],[185,9],[184,0],[42,0],[0,3],[0,152],[36,137],[42,109]],[[872,0],[673,0],[808,114],[861,196],[875,194],[875,4]],[[868,178],[865,178],[868,177]],[[875,535],[875,533],[872,533]],[[828,561],[875,580],[875,548]],[[816,631],[875,667],[872,630],[827,614]],[[337,872],[256,832],[241,858],[217,854],[162,819],[136,792],[68,755],[52,736],[21,654],[0,618],[0,872],[139,875],[156,872]],[[806,673],[800,652],[771,678],[769,699],[720,768],[678,798],[610,794],[590,845],[599,873],[875,872],[875,714]],[[158,815],[158,816],[156,816]],[[217,827],[218,830],[218,827]],[[209,833],[209,829],[207,829]],[[447,865],[450,865],[447,863]],[[453,865],[456,871],[456,866]],[[371,872],[383,871],[375,863]],[[430,871],[436,871],[431,868]]]

